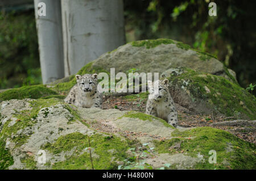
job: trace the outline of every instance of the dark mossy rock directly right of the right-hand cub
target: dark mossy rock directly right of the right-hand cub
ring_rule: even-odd
[[[237,83],[218,75],[178,68],[165,71],[176,103],[197,113],[216,113],[235,119],[256,119],[256,99]]]

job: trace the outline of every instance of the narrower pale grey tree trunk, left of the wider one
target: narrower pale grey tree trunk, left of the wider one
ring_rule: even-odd
[[[46,4],[46,16],[38,15],[38,3]],[[34,0],[43,83],[64,77],[60,0]]]

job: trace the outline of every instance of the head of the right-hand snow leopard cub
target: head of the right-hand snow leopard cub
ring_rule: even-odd
[[[163,81],[147,81],[149,96],[148,99],[160,100],[166,98],[168,96],[168,79],[164,79]]]

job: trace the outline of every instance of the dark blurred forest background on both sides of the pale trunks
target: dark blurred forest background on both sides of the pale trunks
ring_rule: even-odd
[[[208,15],[216,2],[217,16]],[[126,42],[170,38],[212,53],[256,83],[256,1],[124,0]],[[0,89],[42,83],[34,10],[0,13]],[[256,89],[256,87],[254,87]],[[256,91],[251,91],[256,95]]]

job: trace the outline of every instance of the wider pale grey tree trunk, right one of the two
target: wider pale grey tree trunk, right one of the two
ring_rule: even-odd
[[[122,0],[62,0],[65,76],[125,44]]]

